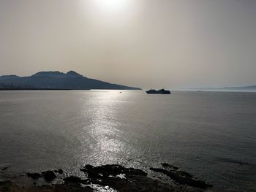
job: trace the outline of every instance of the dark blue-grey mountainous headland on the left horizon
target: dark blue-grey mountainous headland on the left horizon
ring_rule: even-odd
[[[0,90],[141,90],[84,77],[77,72],[38,72],[29,77],[0,76]]]

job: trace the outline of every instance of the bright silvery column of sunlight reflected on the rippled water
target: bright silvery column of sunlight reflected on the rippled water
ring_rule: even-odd
[[[124,142],[118,139],[120,129],[117,128],[119,123],[116,119],[118,114],[116,104],[124,100],[125,96],[117,91],[108,91],[103,94],[96,92],[94,99],[89,100],[93,110],[91,124],[86,129],[89,130],[87,134],[94,142],[90,146],[93,151],[91,155],[86,156],[86,161],[88,158],[96,162],[115,161],[117,159],[115,154],[124,150]]]

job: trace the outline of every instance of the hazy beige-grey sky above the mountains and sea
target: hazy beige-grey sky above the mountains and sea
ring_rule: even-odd
[[[255,0],[0,0],[0,74],[142,88],[256,84]]]

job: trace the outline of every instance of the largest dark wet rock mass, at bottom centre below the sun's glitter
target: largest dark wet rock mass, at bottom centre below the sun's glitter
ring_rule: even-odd
[[[102,186],[109,186],[116,191],[133,191],[133,192],[148,192],[148,191],[191,191],[187,186],[173,187],[167,183],[162,183],[159,180],[154,180],[146,177],[147,173],[140,169],[125,168],[120,165],[105,165],[105,166],[91,166],[86,165],[82,172],[86,172],[89,177],[89,182]],[[164,170],[164,169],[162,169]],[[164,170],[166,171],[166,170]],[[166,171],[167,172],[167,171]],[[122,175],[124,177],[118,177]],[[201,191],[199,189],[192,191]]]

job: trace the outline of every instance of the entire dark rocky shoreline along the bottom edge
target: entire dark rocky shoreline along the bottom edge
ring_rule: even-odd
[[[134,192],[147,192],[147,191],[206,191],[211,188],[205,181],[197,180],[192,174],[181,171],[176,166],[170,164],[161,164],[161,168],[151,167],[151,172],[159,174],[157,177],[144,172],[141,169],[126,168],[121,165],[102,165],[91,166],[86,165],[80,172],[83,172],[86,177],[81,178],[77,176],[61,177],[64,175],[62,169],[48,170],[41,173],[26,173],[34,186],[17,185],[12,181],[0,182],[0,192],[5,191],[21,191],[21,192],[34,192],[34,191],[134,191]],[[4,167],[2,170],[8,168]],[[150,171],[149,171],[150,172]],[[161,179],[161,176],[168,177],[170,182],[167,183]],[[60,179],[61,178],[61,179]],[[61,184],[53,184],[54,180],[61,180]],[[45,180],[48,185],[37,185],[39,180]]]

